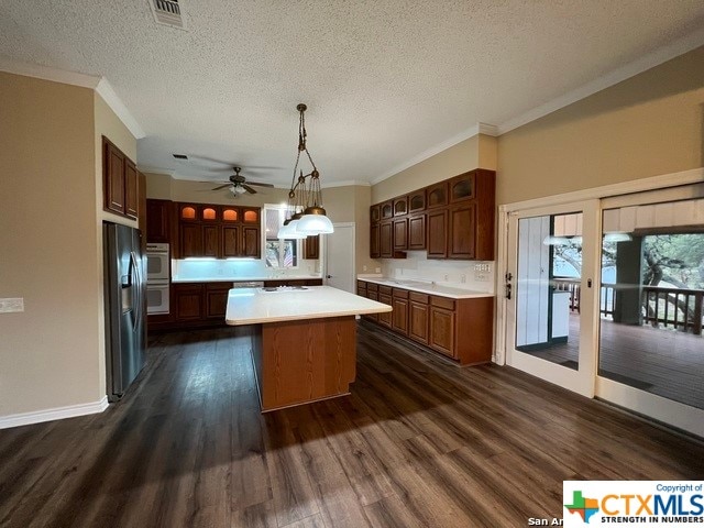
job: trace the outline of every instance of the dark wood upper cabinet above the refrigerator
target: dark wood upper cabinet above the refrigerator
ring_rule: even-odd
[[[103,209],[136,219],[140,212],[140,184],[136,165],[110,140],[102,136]]]

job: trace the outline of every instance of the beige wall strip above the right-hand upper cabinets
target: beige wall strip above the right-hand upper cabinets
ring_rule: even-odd
[[[496,138],[474,135],[372,187],[372,204],[420,189],[474,168],[496,169]]]

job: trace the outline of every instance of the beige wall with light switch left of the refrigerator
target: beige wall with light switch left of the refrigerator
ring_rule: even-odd
[[[0,73],[0,417],[96,403],[94,91]]]

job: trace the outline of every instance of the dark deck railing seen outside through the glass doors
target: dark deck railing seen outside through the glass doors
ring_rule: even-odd
[[[558,292],[570,293],[570,311],[580,311],[580,280],[575,278],[553,278]],[[704,326],[704,289],[666,288],[641,286],[644,321],[657,327],[672,327],[702,334]],[[602,284],[600,312],[603,317],[614,316],[617,285]]]

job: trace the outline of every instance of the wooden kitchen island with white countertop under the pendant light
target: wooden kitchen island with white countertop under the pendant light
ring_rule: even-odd
[[[356,373],[355,316],[392,307],[329,286],[240,288],[226,322],[244,327],[262,411],[350,393]]]

